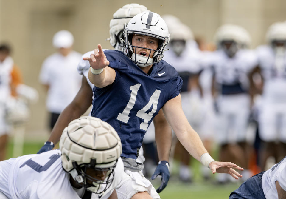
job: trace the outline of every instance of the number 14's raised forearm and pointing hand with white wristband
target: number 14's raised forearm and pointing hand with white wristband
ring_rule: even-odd
[[[98,50],[94,50],[94,54],[85,57],[83,60],[89,61],[90,69],[88,72],[89,81],[96,87],[103,88],[112,84],[115,80],[115,70],[108,67],[109,61],[102,50],[100,44],[97,45]]]

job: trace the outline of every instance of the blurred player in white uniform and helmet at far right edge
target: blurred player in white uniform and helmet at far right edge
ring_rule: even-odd
[[[257,47],[259,67],[252,74],[260,74],[262,98],[259,109],[259,136],[262,140],[259,155],[261,170],[269,157],[275,163],[286,155],[286,24],[272,24],[266,34],[268,45]]]

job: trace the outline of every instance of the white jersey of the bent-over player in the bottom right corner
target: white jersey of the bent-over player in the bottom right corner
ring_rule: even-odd
[[[265,171],[262,176],[262,189],[266,199],[278,198],[276,181],[286,191],[286,157]]]

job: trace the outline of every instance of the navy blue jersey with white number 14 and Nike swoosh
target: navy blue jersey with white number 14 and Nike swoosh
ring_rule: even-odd
[[[122,52],[104,53],[116,77],[111,85],[94,87],[91,116],[117,131],[121,156],[136,159],[149,124],[168,100],[179,95],[182,79],[164,60],[154,64],[147,75]]]

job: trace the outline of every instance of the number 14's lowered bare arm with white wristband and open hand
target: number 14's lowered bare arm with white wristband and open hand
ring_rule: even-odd
[[[197,132],[195,132],[194,129],[192,129],[188,120],[186,119],[186,116],[184,115],[181,106],[181,95],[178,95],[177,97],[167,101],[163,107],[163,111],[169,124],[177,135],[178,140],[194,158],[196,158],[204,165],[209,166],[213,173],[228,173],[236,179],[242,177],[242,175],[234,170],[243,170],[236,164],[229,162],[217,162],[212,158],[210,158],[212,160],[209,161],[209,158],[207,160],[204,158],[210,156],[203,146],[199,135]]]

